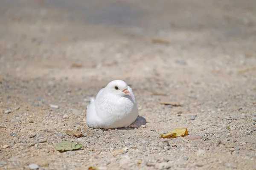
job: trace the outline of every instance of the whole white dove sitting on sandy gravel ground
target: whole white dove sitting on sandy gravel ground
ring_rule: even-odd
[[[122,80],[113,80],[90,98],[86,122],[93,128],[128,127],[138,116],[138,106],[132,89]]]

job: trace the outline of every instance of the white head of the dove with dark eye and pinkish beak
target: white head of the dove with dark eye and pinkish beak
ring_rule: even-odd
[[[128,85],[122,80],[113,80],[106,86],[109,92],[118,96],[131,96],[131,92],[128,90]]]

